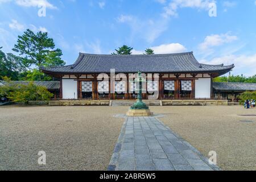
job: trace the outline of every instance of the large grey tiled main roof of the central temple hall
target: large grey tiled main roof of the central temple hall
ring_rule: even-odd
[[[163,55],[92,55],[80,53],[76,62],[64,67],[41,68],[55,73],[180,73],[229,72],[234,65],[200,64],[193,52]]]

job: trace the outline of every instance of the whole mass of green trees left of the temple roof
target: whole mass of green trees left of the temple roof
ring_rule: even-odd
[[[40,67],[63,66],[62,51],[55,48],[53,39],[47,32],[34,33],[26,30],[18,36],[13,53],[4,53],[0,47],[0,78],[9,77],[11,80],[49,81],[51,77],[42,73]]]

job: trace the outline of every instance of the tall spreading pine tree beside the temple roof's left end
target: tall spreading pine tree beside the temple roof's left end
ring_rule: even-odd
[[[22,36],[18,36],[13,51],[22,56],[23,64],[27,68],[65,65],[61,60],[61,50],[55,49],[55,43],[48,38],[47,32],[39,31],[35,34],[29,29],[26,30]]]

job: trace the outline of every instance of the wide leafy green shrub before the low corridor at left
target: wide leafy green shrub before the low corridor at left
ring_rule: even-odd
[[[36,86],[33,82],[25,84],[15,84],[7,82],[4,86],[0,86],[0,95],[9,98],[14,102],[28,101],[49,101],[53,94],[48,92],[44,86]]]

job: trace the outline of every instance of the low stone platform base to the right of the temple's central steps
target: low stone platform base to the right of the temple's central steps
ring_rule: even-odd
[[[163,100],[163,106],[178,106],[178,105],[195,105],[195,106],[210,106],[210,105],[228,105],[228,100]]]

